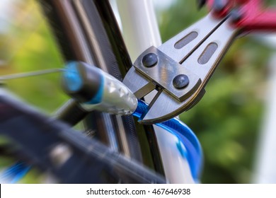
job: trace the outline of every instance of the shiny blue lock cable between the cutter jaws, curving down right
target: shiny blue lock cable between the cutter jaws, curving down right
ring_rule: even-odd
[[[137,110],[135,110],[133,115],[140,118],[144,112],[147,111],[147,108],[148,105],[144,103],[144,101],[138,100]],[[197,139],[197,136],[195,136],[195,134],[186,124],[177,118],[157,123],[156,126],[165,129],[171,134],[174,134],[178,137],[179,141],[182,142],[187,150],[185,156],[183,157],[187,158],[188,160],[193,179],[198,181],[202,170],[202,148],[200,146],[200,142]]]

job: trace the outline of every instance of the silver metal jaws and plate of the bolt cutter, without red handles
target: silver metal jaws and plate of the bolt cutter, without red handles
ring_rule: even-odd
[[[138,98],[149,93],[152,88],[149,88],[150,83],[159,92],[139,122],[163,122],[195,105],[204,95],[207,81],[237,33],[238,30],[231,28],[230,19],[218,21],[206,16],[157,49],[150,47],[143,52],[134,63],[136,71],[130,70],[124,83]],[[151,52],[159,56],[159,63],[145,67],[142,57]],[[185,74],[190,80],[190,84],[181,90],[173,87],[173,78],[179,74]]]

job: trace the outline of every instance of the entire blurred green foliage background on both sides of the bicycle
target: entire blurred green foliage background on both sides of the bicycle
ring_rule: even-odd
[[[205,16],[207,10],[198,11],[195,1],[178,0],[158,13],[161,37],[166,41]],[[7,32],[0,33],[1,75],[62,67],[58,47],[35,1],[16,1],[12,18]],[[200,103],[180,115],[202,143],[203,183],[251,182],[270,54],[253,37],[239,38],[209,81]],[[58,85],[59,74],[8,81],[11,91],[48,113],[67,99]],[[0,166],[8,163],[1,158]],[[35,170],[30,174],[36,175]]]

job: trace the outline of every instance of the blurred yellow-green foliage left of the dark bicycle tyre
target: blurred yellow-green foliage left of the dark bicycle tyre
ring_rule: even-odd
[[[62,57],[38,4],[15,1],[10,14],[8,29],[0,35],[1,75],[62,67]],[[59,89],[59,74],[19,78],[6,85],[48,113],[67,98]]]

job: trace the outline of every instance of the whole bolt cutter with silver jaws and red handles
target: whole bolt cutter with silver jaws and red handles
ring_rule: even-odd
[[[163,122],[189,110],[205,94],[209,78],[238,35],[276,30],[276,10],[265,10],[261,3],[199,1],[210,9],[205,18],[145,50],[123,80],[138,99],[155,93],[139,122]]]

